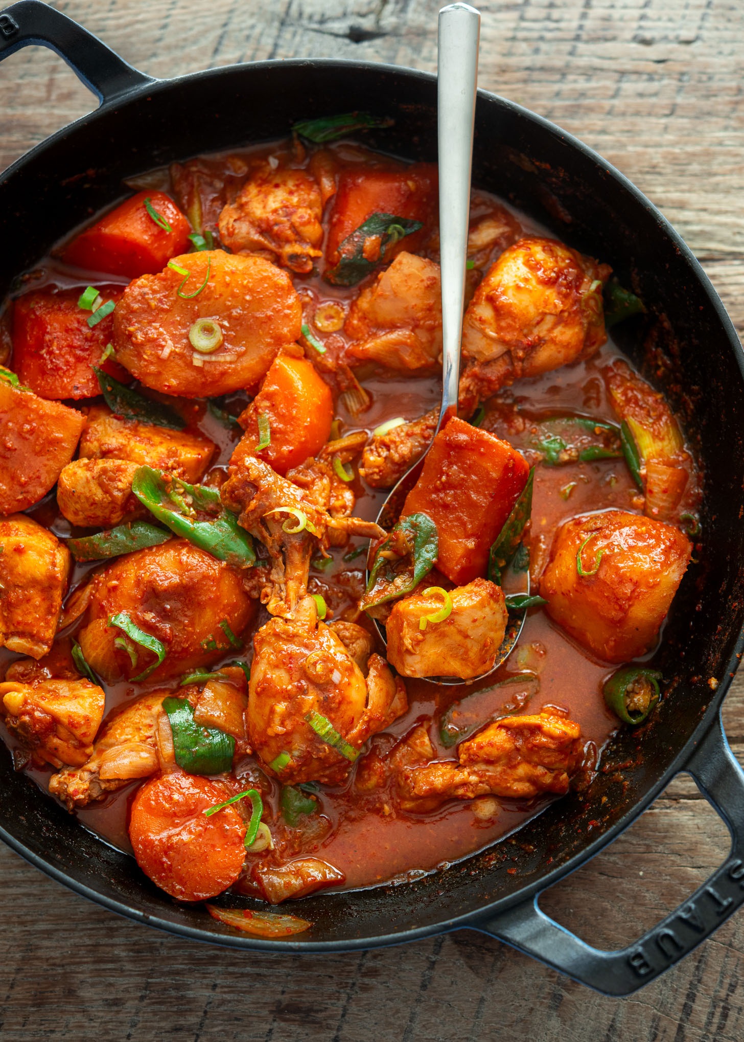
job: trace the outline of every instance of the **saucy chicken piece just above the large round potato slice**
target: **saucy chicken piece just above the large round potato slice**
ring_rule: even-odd
[[[306,170],[263,163],[220,214],[220,238],[233,253],[266,252],[308,274],[323,255],[321,190]]]

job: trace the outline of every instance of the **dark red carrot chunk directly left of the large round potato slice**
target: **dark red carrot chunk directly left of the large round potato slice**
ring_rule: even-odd
[[[122,288],[100,287],[102,299],[118,302]],[[13,358],[21,381],[42,398],[93,398],[100,388],[93,366],[117,379],[128,373],[101,355],[114,339],[114,317],[91,327],[93,312],[78,307],[79,290],[26,293],[14,305]]]

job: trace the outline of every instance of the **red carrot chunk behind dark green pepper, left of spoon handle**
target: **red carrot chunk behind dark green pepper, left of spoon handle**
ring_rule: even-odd
[[[431,230],[438,183],[437,167],[424,163],[402,170],[344,171],[339,178],[328,223],[325,251],[328,264],[338,263],[339,246],[373,214],[391,214],[423,222],[420,231],[406,235],[395,246],[388,246],[385,259],[390,263],[403,249],[415,253]]]

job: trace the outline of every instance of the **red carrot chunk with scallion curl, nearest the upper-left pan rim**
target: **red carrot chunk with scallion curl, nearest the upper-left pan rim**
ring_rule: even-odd
[[[159,222],[150,215],[146,199]],[[187,251],[190,231],[185,217],[165,193],[138,192],[73,239],[63,259],[110,275],[154,275],[172,256]]]

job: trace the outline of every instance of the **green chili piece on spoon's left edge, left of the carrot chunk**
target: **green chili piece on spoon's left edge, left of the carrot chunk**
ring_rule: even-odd
[[[383,556],[393,545],[400,544],[401,537],[411,548],[410,554],[398,561]],[[377,548],[367,591],[359,601],[361,609],[367,611],[411,593],[431,571],[438,554],[439,531],[431,518],[427,514],[408,514],[401,518]]]

